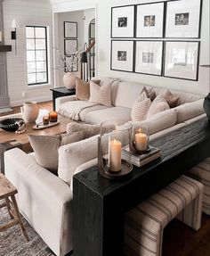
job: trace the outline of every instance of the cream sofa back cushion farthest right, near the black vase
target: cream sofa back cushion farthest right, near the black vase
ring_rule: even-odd
[[[200,99],[196,102],[185,103],[175,107],[174,110],[177,113],[177,123],[182,123],[203,114],[203,102],[204,99]]]

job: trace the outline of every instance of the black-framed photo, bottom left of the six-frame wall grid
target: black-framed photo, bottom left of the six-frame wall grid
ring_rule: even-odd
[[[111,41],[111,70],[133,72],[133,41]]]

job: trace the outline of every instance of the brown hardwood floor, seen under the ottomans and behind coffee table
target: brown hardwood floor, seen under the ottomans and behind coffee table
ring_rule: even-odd
[[[52,111],[51,101],[38,105]],[[20,107],[13,108],[13,113],[17,112]],[[210,216],[202,215],[202,227],[198,232],[176,219],[171,221],[164,231],[162,256],[210,256]]]

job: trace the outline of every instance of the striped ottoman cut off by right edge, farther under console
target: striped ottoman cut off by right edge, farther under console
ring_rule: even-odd
[[[210,215],[210,157],[205,161],[201,161],[197,166],[189,170],[191,178],[195,178],[204,185],[203,210]]]

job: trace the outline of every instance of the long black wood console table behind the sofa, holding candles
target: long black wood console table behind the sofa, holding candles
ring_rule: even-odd
[[[74,256],[124,255],[125,211],[210,156],[210,123],[203,118],[151,145],[162,150],[162,159],[133,167],[129,178],[103,178],[97,166],[74,176]]]

